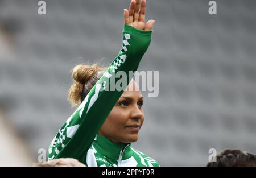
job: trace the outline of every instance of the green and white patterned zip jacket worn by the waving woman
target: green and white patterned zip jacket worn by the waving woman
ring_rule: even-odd
[[[150,45],[151,33],[125,24],[121,51],[84,101],[61,126],[49,146],[48,160],[74,158],[88,166],[159,166],[158,162],[131,148],[130,144],[113,143],[97,134],[123,93],[123,90],[106,88],[117,82],[114,78],[116,72],[124,71],[129,76],[129,71],[137,71]],[[127,84],[130,80],[127,77]]]

